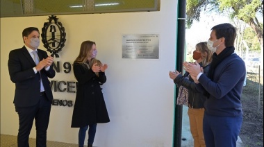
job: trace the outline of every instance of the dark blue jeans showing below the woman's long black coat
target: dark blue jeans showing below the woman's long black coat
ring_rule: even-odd
[[[83,147],[84,144],[84,139],[85,139],[85,134],[86,130],[88,129],[88,126],[82,127],[79,130],[79,146]],[[97,123],[89,125],[89,130],[88,130],[88,144],[93,144],[94,143],[94,137],[95,137],[95,132],[97,131]]]

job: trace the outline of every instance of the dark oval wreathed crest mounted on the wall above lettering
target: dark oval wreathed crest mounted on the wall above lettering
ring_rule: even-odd
[[[51,56],[55,55],[58,58],[58,52],[63,49],[66,42],[65,28],[55,15],[49,16],[48,20],[49,22],[45,22],[42,28],[42,42],[44,48],[51,53]]]

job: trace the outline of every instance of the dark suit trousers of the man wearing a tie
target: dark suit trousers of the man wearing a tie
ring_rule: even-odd
[[[37,105],[31,107],[15,107],[19,116],[19,130],[17,135],[17,146],[28,147],[28,137],[31,132],[33,121],[35,119],[35,128],[37,131],[36,146],[47,146],[47,129],[49,126],[49,115],[51,112],[51,102],[46,95],[39,97]]]

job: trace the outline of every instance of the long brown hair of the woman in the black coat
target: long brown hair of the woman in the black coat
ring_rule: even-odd
[[[81,48],[78,57],[74,60],[74,62],[77,62],[79,64],[85,65],[85,67],[88,67],[87,60],[89,57],[89,53],[92,50],[92,45],[96,45],[95,42],[92,42],[90,40],[84,41],[81,43]]]

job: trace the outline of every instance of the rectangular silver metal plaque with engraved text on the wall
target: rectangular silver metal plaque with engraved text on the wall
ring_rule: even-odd
[[[158,59],[159,35],[122,35],[122,58]]]

